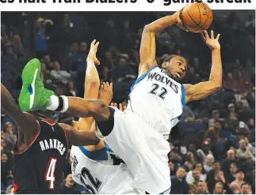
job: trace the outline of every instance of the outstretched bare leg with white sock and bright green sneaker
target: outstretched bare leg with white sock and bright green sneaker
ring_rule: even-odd
[[[109,118],[109,107],[99,99],[55,96],[44,88],[40,80],[40,61],[30,60],[22,71],[19,105],[22,111],[50,110],[68,112],[76,117],[94,117],[98,121]]]

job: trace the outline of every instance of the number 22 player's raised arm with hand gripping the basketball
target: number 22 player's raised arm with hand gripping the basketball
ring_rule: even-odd
[[[184,29],[179,17],[180,11],[173,15],[162,17],[151,24],[145,25],[139,48],[139,77],[144,73],[147,73],[151,67],[157,66],[157,62],[155,60],[155,32],[162,31],[162,29],[172,24],[178,24],[180,28]]]

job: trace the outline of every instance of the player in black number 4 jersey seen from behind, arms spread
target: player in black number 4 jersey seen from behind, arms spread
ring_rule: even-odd
[[[35,77],[39,75],[40,71]],[[14,193],[60,193],[69,144],[95,145],[99,142],[95,132],[78,131],[22,112],[3,84],[1,100],[2,109],[19,126],[14,148]]]

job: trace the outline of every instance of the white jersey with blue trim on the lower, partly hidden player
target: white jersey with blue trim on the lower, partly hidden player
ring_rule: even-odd
[[[127,166],[113,165],[112,154],[108,146],[96,152],[72,146],[72,178],[90,193],[132,193],[132,176]]]

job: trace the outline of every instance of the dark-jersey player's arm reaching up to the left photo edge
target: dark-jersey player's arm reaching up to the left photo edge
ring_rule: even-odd
[[[26,142],[29,143],[39,130],[38,123],[32,114],[21,111],[3,84],[1,84],[1,107],[20,127],[19,129],[24,133]]]

